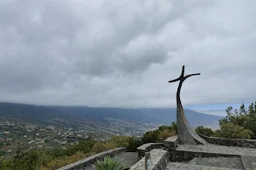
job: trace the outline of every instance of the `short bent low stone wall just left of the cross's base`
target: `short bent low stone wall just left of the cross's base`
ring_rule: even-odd
[[[164,143],[143,144],[143,145],[137,147],[137,156],[139,159],[142,159],[142,157],[145,156],[145,152],[148,152],[148,151],[154,150],[154,149],[161,149],[163,147],[165,147]]]

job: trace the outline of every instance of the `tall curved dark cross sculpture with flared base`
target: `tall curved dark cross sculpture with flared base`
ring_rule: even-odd
[[[207,141],[201,139],[201,137],[195,133],[194,129],[190,127],[189,122],[184,115],[183,105],[180,99],[180,91],[183,85],[183,82],[192,76],[198,76],[201,73],[190,74],[184,77],[184,69],[185,66],[183,65],[183,71],[177,79],[174,79],[169,82],[177,82],[179,81],[178,88],[177,88],[177,137],[180,144],[207,144]]]

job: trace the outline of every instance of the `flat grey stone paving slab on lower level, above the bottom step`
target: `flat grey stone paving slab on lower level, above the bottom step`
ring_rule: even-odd
[[[243,169],[241,157],[195,157],[189,164],[209,166],[209,167],[228,167],[233,169]]]

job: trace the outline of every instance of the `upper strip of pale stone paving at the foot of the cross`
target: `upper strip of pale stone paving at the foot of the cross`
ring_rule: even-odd
[[[216,144],[182,144],[177,147],[176,150],[190,151],[190,152],[203,152],[203,153],[215,153],[223,155],[234,156],[256,156],[256,149],[241,148],[234,146],[222,146]]]

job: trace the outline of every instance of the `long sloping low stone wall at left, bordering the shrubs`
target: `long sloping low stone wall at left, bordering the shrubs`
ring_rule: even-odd
[[[124,152],[125,148],[117,148],[115,150],[106,150],[101,153],[98,153],[93,156],[89,156],[80,161],[75,161],[72,164],[69,164],[65,167],[60,167],[57,170],[75,170],[75,169],[83,169],[83,167],[88,167],[94,164],[97,160],[103,160],[105,156],[116,156],[120,152]]]

